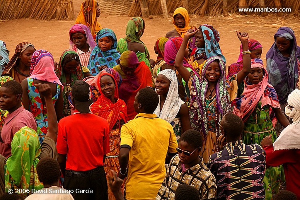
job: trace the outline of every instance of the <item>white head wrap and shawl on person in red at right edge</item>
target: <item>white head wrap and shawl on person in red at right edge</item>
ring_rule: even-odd
[[[292,110],[288,106],[285,107],[285,113],[293,119],[293,123],[282,130],[273,144],[274,150],[300,149],[300,90],[292,91],[287,98],[287,103],[294,107]]]

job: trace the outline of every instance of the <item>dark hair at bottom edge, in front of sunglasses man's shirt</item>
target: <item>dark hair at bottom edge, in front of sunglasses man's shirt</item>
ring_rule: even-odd
[[[175,200],[200,200],[199,191],[190,185],[181,184],[175,192]]]

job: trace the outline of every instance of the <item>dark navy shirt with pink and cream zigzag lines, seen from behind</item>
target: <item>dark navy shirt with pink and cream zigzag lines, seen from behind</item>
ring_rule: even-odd
[[[229,142],[207,166],[217,180],[217,199],[265,199],[265,151],[258,144]]]

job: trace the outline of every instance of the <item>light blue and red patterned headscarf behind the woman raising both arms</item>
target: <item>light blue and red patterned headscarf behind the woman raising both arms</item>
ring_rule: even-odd
[[[197,48],[195,52],[195,60],[199,60],[201,58],[207,59],[213,56],[218,56],[223,60],[224,63],[226,63],[226,59],[222,54],[219,45],[219,31],[214,29],[212,25],[208,24],[200,25],[199,29],[201,29],[202,31],[205,46],[204,48]]]

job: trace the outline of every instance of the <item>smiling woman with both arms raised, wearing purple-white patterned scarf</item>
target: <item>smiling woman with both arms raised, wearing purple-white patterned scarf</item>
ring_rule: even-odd
[[[184,35],[182,45],[176,55],[175,67],[190,90],[190,122],[193,129],[203,134],[201,156],[206,163],[211,154],[220,149],[217,138],[221,134],[222,116],[230,112],[231,101],[237,95],[238,85],[250,72],[250,51],[248,49],[248,34],[236,32],[243,46],[243,70],[226,79],[226,69],[223,60],[218,56],[208,58],[203,65],[201,77],[195,72],[189,72],[183,65],[184,52],[188,40],[199,31]]]

